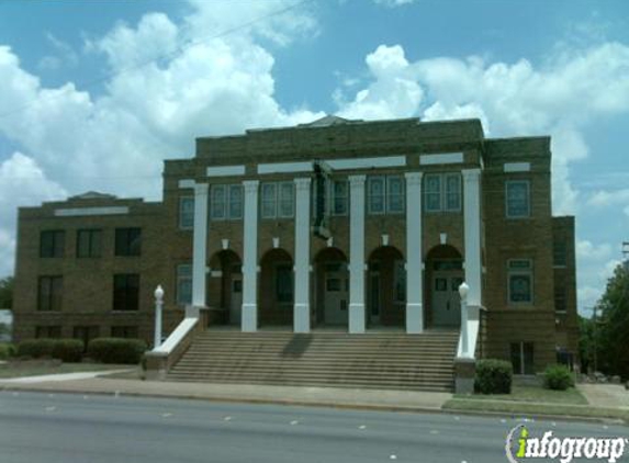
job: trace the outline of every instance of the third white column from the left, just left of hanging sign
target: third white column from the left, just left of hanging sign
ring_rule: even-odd
[[[311,179],[295,179],[295,332],[310,332]]]

